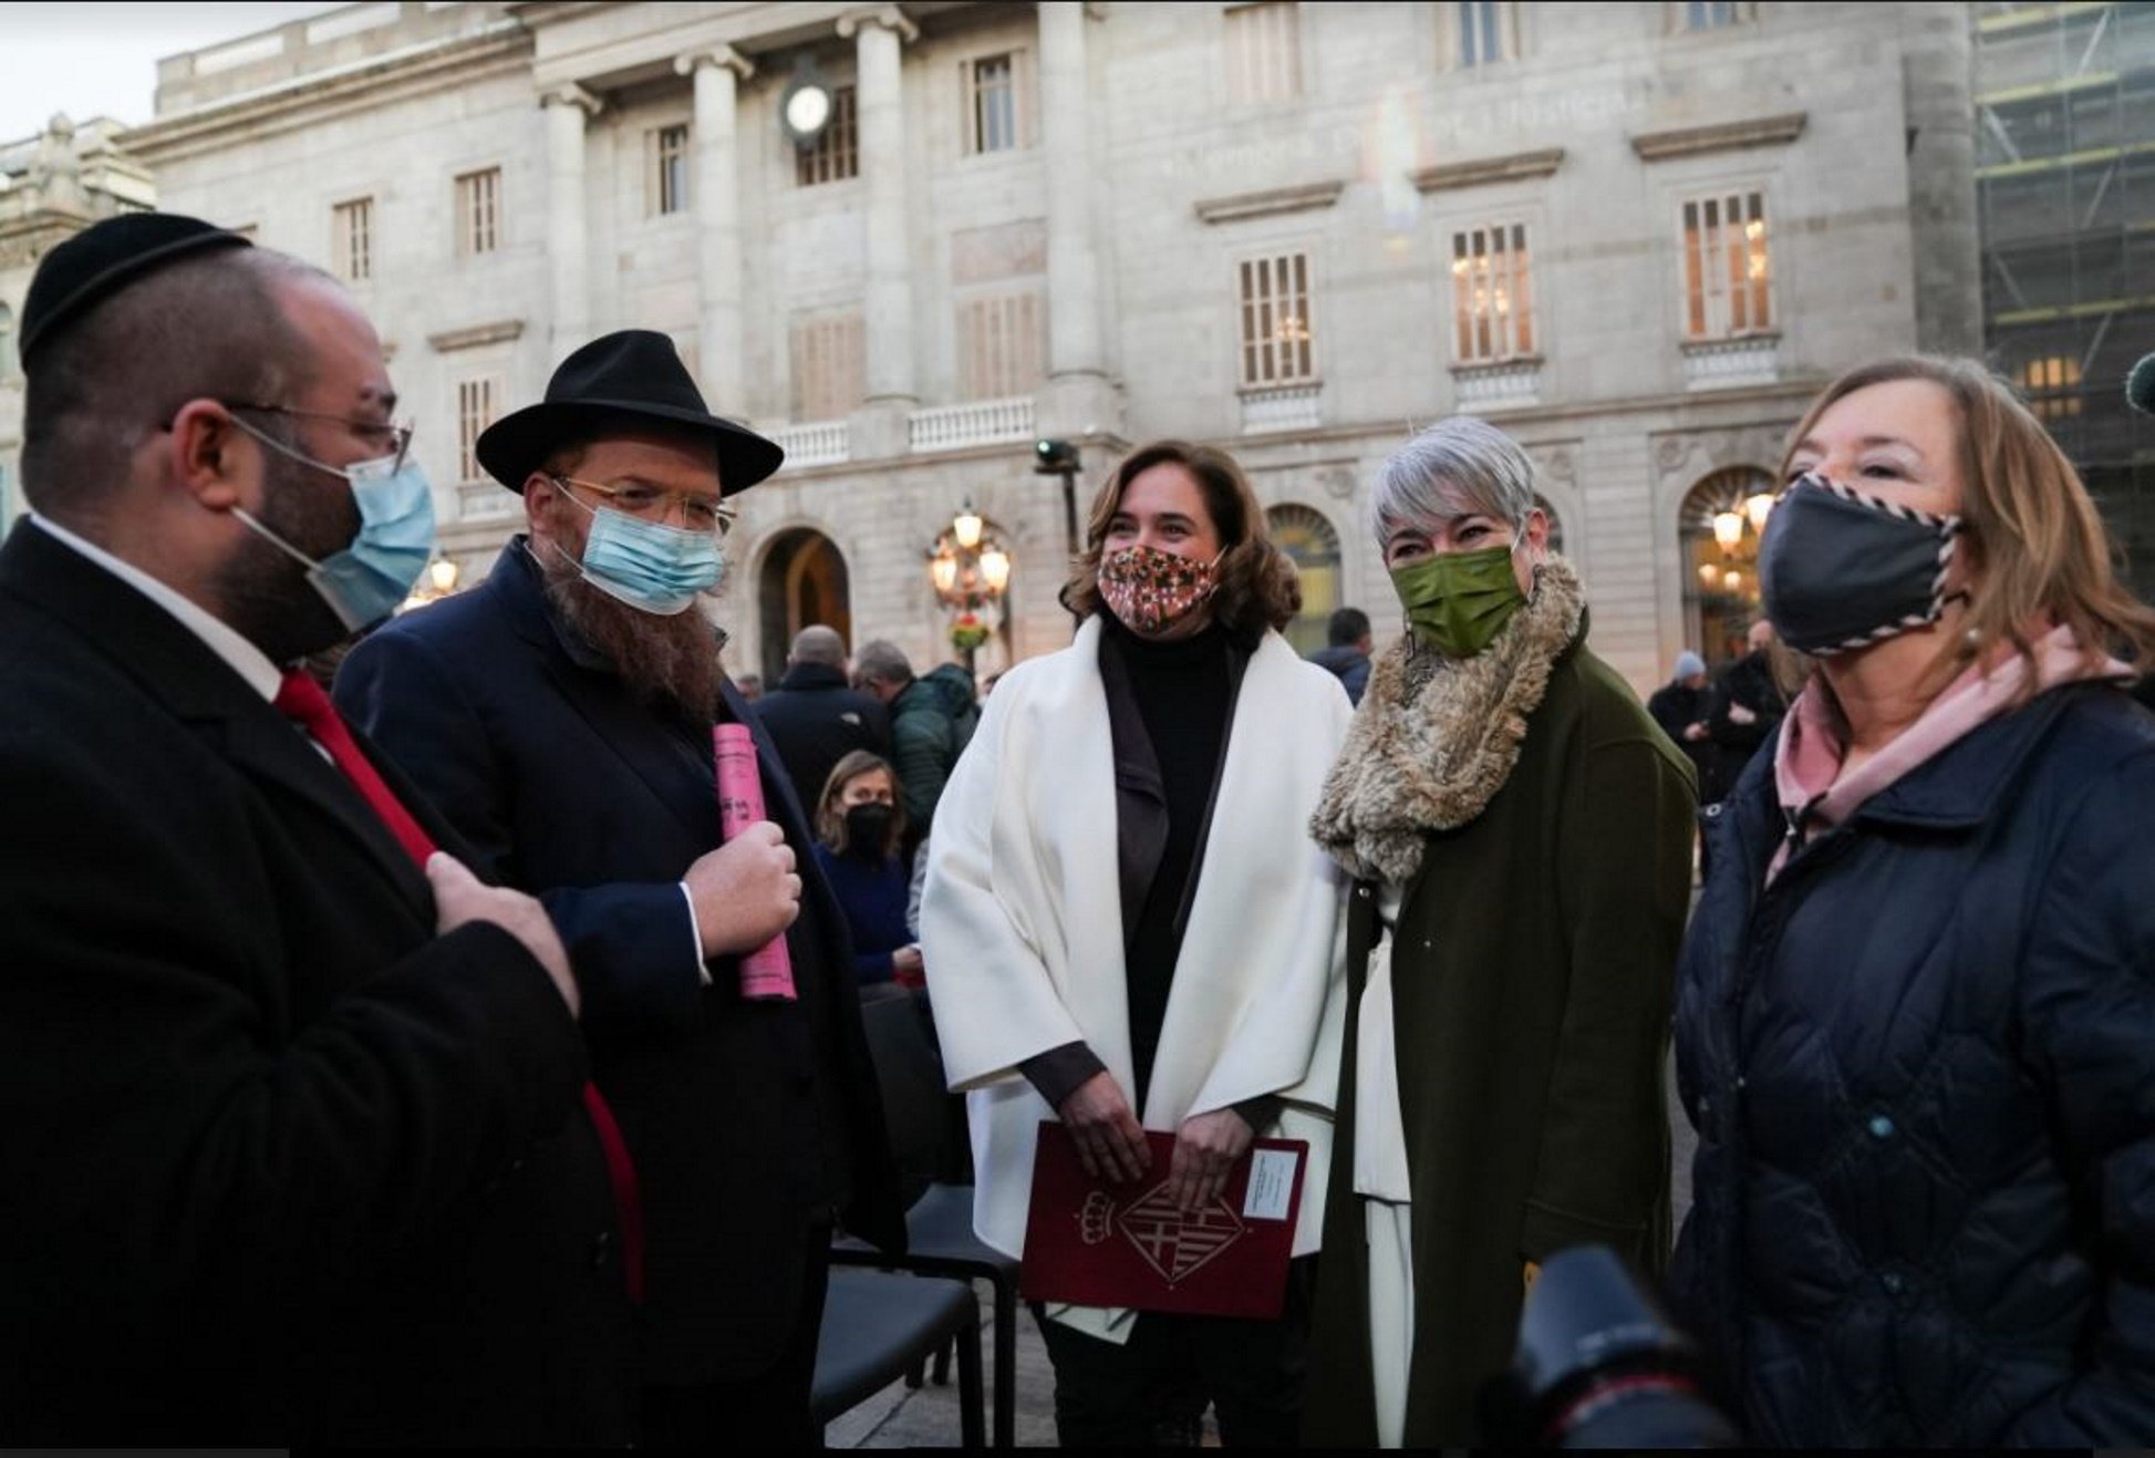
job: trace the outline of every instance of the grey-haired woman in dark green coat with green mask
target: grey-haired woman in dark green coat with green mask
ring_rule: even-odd
[[[1304,1439],[1465,1445],[1539,1264],[1668,1249],[1662,1065],[1692,766],[1586,649],[1532,464],[1452,418],[1386,462],[1409,634],[1310,822],[1358,880]]]

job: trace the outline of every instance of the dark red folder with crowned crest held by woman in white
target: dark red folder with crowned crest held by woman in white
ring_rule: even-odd
[[[1043,1122],[1019,1285],[1028,1301],[1276,1318],[1302,1212],[1310,1145],[1259,1139],[1209,1206],[1168,1197],[1174,1134],[1146,1132],[1153,1165],[1127,1184],[1095,1180],[1060,1124]]]

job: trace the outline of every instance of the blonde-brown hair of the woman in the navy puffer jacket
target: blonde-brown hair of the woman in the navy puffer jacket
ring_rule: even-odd
[[[1996,643],[2034,666],[2028,628],[2045,617],[2073,630],[2084,654],[2125,654],[2136,669],[2155,651],[2155,613],[2118,584],[2103,518],[2043,423],[1976,360],[1894,356],[1847,371],[1812,401],[1789,436],[1789,457],[1836,401],[1873,384],[1927,380],[1952,397],[1961,421],[1961,541],[1976,569],[1965,632],[1939,649],[1944,679]],[[1944,688],[1944,682],[1933,684]],[[2036,675],[2024,692],[2032,694]]]

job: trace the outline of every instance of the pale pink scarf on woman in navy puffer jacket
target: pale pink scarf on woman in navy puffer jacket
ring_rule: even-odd
[[[2133,677],[2133,669],[2116,658],[2080,651],[2073,630],[2062,623],[2034,641],[2034,692],[2084,679],[2131,682]],[[1840,774],[1847,746],[1834,733],[1821,686],[1806,684],[1789,705],[1789,723],[1774,748],[1774,785],[1782,813],[1802,817],[1804,839],[1838,826],[1864,800],[1944,753],[1978,725],[2021,703],[2026,679],[2028,660],[2011,645],[2000,645],[1989,666],[1968,664],[1914,725],[1847,776]],[[1767,884],[1789,863],[1789,841],[1782,839],[1765,871]]]

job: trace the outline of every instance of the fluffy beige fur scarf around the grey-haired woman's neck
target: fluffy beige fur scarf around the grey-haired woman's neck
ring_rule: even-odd
[[[1310,815],[1317,843],[1362,880],[1414,880],[1422,839],[1480,815],[1511,779],[1549,669],[1584,621],[1577,574],[1549,556],[1534,595],[1474,658],[1433,654],[1412,632],[1377,654]]]

